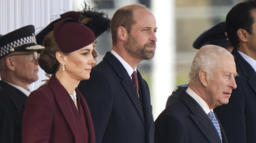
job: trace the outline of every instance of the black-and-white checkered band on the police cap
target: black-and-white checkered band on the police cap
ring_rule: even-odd
[[[16,40],[11,42],[10,44],[4,45],[0,47],[0,57],[3,55],[9,54],[11,48],[15,48],[21,45],[36,43],[35,36],[28,36],[24,38],[20,38],[20,40]]]

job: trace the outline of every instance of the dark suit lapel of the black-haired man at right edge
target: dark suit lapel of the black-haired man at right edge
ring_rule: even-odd
[[[232,54],[234,55],[234,58],[236,60],[236,66],[240,66],[241,70],[243,72],[243,75],[245,75],[246,77],[248,77],[248,83],[250,84],[251,88],[254,90],[254,92],[256,93],[256,72],[253,69],[253,67],[251,67],[251,65],[245,60],[243,59],[243,57],[240,55],[240,53],[238,53],[237,49],[234,49],[232,51]]]

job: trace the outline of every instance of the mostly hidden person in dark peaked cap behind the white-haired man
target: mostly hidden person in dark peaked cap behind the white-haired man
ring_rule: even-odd
[[[212,28],[207,29],[200,34],[199,37],[193,43],[195,49],[200,49],[204,45],[216,45],[224,47],[230,53],[234,47],[230,44],[228,37],[226,36],[226,21],[214,25]],[[168,97],[166,107],[170,105],[180,94],[181,90],[186,90],[187,84],[177,86],[172,92],[171,96]]]

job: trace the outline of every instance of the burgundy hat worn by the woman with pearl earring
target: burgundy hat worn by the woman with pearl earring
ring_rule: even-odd
[[[80,21],[80,12],[69,11],[60,15],[54,25],[55,41],[64,53],[71,53],[92,44],[94,33]]]

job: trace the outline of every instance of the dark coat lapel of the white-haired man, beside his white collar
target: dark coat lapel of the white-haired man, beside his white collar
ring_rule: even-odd
[[[182,90],[179,94],[179,98],[189,107],[192,112],[190,115],[191,119],[200,129],[203,135],[208,139],[208,141],[214,143],[221,142],[216,128],[199,103],[197,103],[195,99],[189,96],[184,90]]]

